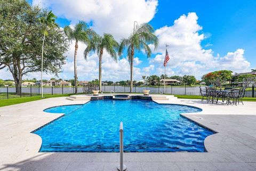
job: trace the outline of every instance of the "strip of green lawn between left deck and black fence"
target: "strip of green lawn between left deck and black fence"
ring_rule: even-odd
[[[69,96],[69,95],[71,95],[71,94],[44,95],[45,98],[41,98],[41,96],[32,96],[32,97],[20,97],[20,98],[15,98],[15,99],[5,99],[5,100],[0,100],[0,107],[4,107],[6,105],[42,100],[42,99],[47,99],[47,98],[51,98],[51,97],[62,97],[62,96]]]

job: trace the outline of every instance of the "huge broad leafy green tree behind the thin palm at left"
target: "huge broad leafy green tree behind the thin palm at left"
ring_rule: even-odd
[[[25,0],[0,1],[0,63],[11,72],[16,92],[22,76],[41,71],[42,24],[47,11],[30,6]],[[68,43],[59,28],[48,30],[44,42],[44,72],[57,75],[65,64]]]

